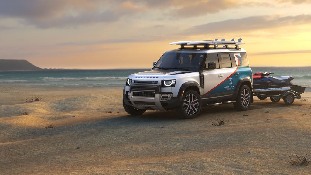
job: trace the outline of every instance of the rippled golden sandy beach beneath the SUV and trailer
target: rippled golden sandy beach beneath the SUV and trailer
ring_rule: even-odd
[[[311,115],[302,115],[311,92],[306,102],[255,97],[248,111],[203,107],[183,120],[176,111],[131,116],[122,90],[0,86],[0,174],[311,174],[281,160],[311,151]]]

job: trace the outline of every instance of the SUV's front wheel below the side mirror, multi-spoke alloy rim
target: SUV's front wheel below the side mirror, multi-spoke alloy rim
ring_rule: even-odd
[[[191,105],[189,105],[191,103]],[[177,114],[183,119],[193,119],[201,111],[201,97],[194,90],[184,92],[179,108],[176,109]]]

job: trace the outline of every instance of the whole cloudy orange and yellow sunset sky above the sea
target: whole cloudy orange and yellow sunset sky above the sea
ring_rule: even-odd
[[[251,66],[311,66],[311,0],[0,0],[0,59],[40,68],[151,68],[216,38],[242,38]]]

